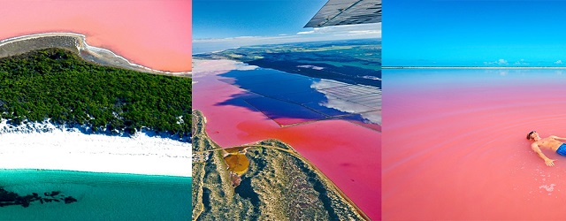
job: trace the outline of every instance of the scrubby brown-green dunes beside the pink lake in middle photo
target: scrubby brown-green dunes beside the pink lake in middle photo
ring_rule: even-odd
[[[223,149],[206,133],[203,113],[194,110],[193,118],[193,139],[197,143],[193,146],[193,220],[222,218],[225,214],[213,209],[223,208],[221,204],[239,205],[241,210],[249,210],[250,213],[243,216],[246,218],[370,219],[332,180],[288,144],[267,140]],[[228,160],[233,154],[249,158],[249,165],[237,171],[235,179],[233,162]],[[205,179],[221,180],[214,184],[221,188],[211,188],[212,183]],[[287,194],[278,195],[282,193]],[[211,202],[215,203],[214,207],[210,207]],[[332,210],[328,210],[330,208]]]

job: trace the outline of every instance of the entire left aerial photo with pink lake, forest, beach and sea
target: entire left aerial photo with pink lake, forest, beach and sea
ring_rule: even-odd
[[[191,1],[0,7],[0,220],[191,217]]]

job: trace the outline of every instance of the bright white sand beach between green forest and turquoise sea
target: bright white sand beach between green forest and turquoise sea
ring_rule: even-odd
[[[0,121],[0,169],[191,176],[191,144],[136,133],[132,138],[76,128]]]

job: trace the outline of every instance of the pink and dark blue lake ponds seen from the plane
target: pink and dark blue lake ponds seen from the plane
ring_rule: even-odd
[[[195,59],[193,73],[193,108],[218,145],[283,141],[378,219],[379,88],[231,60]]]

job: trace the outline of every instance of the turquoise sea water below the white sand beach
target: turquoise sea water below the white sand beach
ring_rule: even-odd
[[[61,191],[78,201],[0,208],[0,220],[190,220],[191,178],[80,171],[0,170],[20,195]]]

